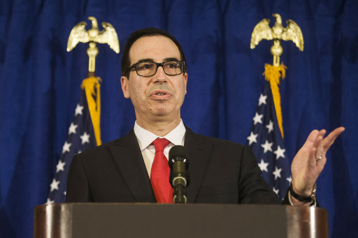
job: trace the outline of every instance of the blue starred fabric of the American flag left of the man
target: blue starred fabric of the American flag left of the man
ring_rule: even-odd
[[[94,129],[88,109],[85,89],[81,91],[80,102],[77,104],[66,141],[62,147],[62,155],[56,165],[56,174],[50,184],[50,193],[46,204],[64,202],[66,199],[67,174],[72,157],[75,154],[96,147]]]

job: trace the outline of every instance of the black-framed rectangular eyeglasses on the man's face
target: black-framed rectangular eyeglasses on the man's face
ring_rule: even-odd
[[[180,75],[184,70],[185,61],[166,61],[163,63],[155,62],[141,62],[133,64],[128,70],[126,75],[132,68],[136,68],[139,76],[150,77],[157,73],[158,67],[162,66],[166,75]]]

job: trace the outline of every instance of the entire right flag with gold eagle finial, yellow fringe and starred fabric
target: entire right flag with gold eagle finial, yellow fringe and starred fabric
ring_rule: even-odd
[[[288,161],[282,126],[280,103],[280,78],[285,78],[287,67],[280,64],[282,55],[281,40],[292,40],[299,50],[303,51],[303,35],[301,29],[292,20],[287,20],[287,27],[282,27],[280,15],[273,14],[275,25],[268,26],[270,20],[261,20],[252,31],[251,49],[261,40],[273,40],[270,52],[273,55],[273,65],[265,64],[265,83],[259,98],[257,112],[252,122],[248,146],[257,157],[257,163],[262,170],[262,177],[270,188],[282,199],[292,181],[290,163]]]

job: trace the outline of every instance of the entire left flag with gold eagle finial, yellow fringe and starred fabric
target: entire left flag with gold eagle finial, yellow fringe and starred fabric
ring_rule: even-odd
[[[99,54],[96,43],[107,43],[116,53],[120,52],[120,45],[117,33],[111,24],[102,22],[103,30],[99,31],[96,18],[88,17],[88,19],[92,22],[92,28],[87,31],[85,29],[86,22],[76,24],[71,30],[67,43],[68,52],[73,50],[78,43],[89,43],[87,49],[89,57],[88,73],[87,78],[81,84],[80,100],[62,147],[55,176],[50,184],[47,204],[65,202],[67,174],[73,156],[102,143],[100,126],[101,78],[95,75],[96,56]]]

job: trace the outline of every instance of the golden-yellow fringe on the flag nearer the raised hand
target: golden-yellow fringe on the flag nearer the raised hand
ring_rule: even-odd
[[[278,85],[280,85],[280,77],[282,80],[286,76],[287,67],[281,63],[280,66],[272,66],[271,64],[265,64],[265,72],[262,74],[265,76],[265,80],[270,82],[273,103],[275,104],[275,111],[278,121],[278,127],[280,128],[281,135],[283,138],[283,127],[282,127],[282,113],[281,113],[281,96]]]

